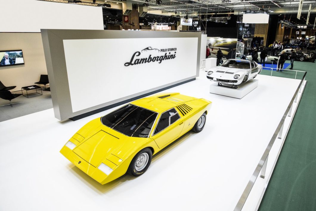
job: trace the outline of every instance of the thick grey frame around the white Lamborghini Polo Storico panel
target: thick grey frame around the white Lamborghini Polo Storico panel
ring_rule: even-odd
[[[51,87],[52,103],[55,117],[59,120],[65,119],[80,119],[97,112],[122,105],[131,100],[138,99],[152,93],[168,89],[173,86],[178,86],[195,80],[199,75],[200,51],[201,51],[201,35],[198,32],[164,32],[164,31],[121,31],[121,30],[68,30],[68,29],[41,29],[44,54],[46,59],[46,67],[48,73],[49,84]],[[120,38],[185,38],[197,37],[197,61],[196,75],[177,80],[153,89],[145,90],[140,93],[115,99],[100,105],[96,105],[81,111],[73,112],[70,99],[70,89],[66,68],[66,60],[64,53],[63,40],[77,39],[120,39]]]

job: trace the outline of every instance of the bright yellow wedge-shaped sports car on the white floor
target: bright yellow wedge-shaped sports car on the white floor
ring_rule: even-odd
[[[60,150],[97,182],[142,175],[151,158],[191,129],[203,130],[211,102],[179,93],[138,99],[84,125]]]

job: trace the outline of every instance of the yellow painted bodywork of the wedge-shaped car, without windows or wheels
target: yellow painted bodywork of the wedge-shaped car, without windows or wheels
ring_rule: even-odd
[[[100,118],[96,118],[84,125],[70,138],[69,141],[75,144],[76,147],[71,150],[64,145],[60,150],[61,154],[94,180],[105,184],[124,175],[131,160],[140,150],[150,148],[154,155],[178,137],[190,131],[201,115],[204,112],[207,113],[211,106],[211,102],[208,100],[179,93],[160,93],[138,99],[131,102],[131,104],[158,113],[149,137],[126,136],[103,125]],[[183,107],[183,104],[186,107]],[[180,119],[166,129],[154,134],[161,114],[171,108],[177,110]],[[112,169],[109,175],[98,169],[101,163]]]

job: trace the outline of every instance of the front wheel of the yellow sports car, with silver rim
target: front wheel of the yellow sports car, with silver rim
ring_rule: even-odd
[[[140,150],[132,159],[127,173],[132,176],[141,176],[148,169],[153,153],[149,148]]]

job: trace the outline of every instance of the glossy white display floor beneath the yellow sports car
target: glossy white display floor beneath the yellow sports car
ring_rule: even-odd
[[[211,94],[205,72],[164,92],[213,102],[200,133],[154,156],[147,172],[100,185],[59,150],[108,111],[60,122],[49,109],[0,122],[0,210],[234,210],[300,80],[258,75],[242,99]]]

